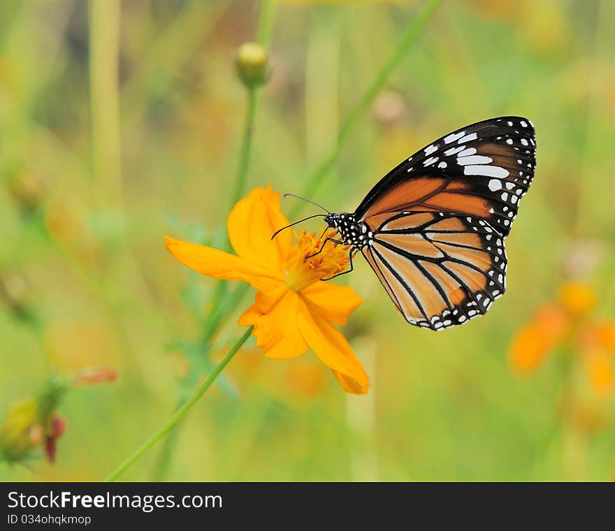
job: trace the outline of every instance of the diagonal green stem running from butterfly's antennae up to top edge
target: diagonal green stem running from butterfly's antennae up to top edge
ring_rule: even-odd
[[[304,197],[309,198],[313,196],[324,177],[326,177],[327,173],[331,170],[331,168],[333,168],[335,161],[337,161],[340,156],[343,145],[356,128],[356,124],[359,122],[359,119],[361,119],[361,117],[363,117],[366,113],[372,101],[374,101],[378,92],[380,92],[380,89],[382,89],[384,83],[389,78],[389,75],[391,75],[391,72],[396,68],[396,66],[398,66],[414,41],[417,40],[421,34],[421,31],[424,29],[429,19],[431,19],[433,13],[435,13],[437,7],[440,6],[440,3],[442,3],[442,0],[429,0],[421,11],[419,11],[417,16],[412,19],[412,22],[410,22],[410,25],[405,30],[397,47],[393,50],[393,53],[377,73],[376,77],[372,80],[370,86],[359,100],[359,103],[356,104],[354,109],[346,118],[345,122],[342,124],[340,133],[338,133],[337,143],[331,147],[331,150],[328,152],[324,160],[320,163],[316,170],[314,170],[314,173],[308,177],[307,186],[303,190],[302,194]],[[303,203],[296,203],[294,210],[291,210],[291,217],[295,217],[302,208]]]

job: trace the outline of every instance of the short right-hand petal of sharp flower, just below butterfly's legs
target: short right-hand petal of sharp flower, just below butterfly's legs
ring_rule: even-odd
[[[361,304],[361,297],[354,289],[329,282],[316,282],[301,291],[301,295],[310,312],[340,325],[345,325],[349,315]]]

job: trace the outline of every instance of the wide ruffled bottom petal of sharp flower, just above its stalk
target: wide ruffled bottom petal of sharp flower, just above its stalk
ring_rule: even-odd
[[[254,325],[252,335],[265,356],[276,359],[296,358],[307,350],[297,326],[298,296],[287,291],[267,313],[259,305],[250,307],[239,319],[240,326]]]

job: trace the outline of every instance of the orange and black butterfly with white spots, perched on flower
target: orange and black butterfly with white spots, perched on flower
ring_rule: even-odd
[[[393,168],[353,213],[324,209],[339,237],[319,252],[329,241],[350,247],[340,274],[361,252],[412,325],[443,330],[482,315],[506,289],[504,240],[533,180],[535,150],[527,118],[453,131]]]

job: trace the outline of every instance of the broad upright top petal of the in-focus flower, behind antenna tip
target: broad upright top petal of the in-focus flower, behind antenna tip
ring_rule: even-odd
[[[291,245],[291,231],[282,231],[273,241],[271,236],[287,224],[280,212],[280,194],[271,187],[256,188],[229,214],[229,239],[243,259],[280,276]]]

